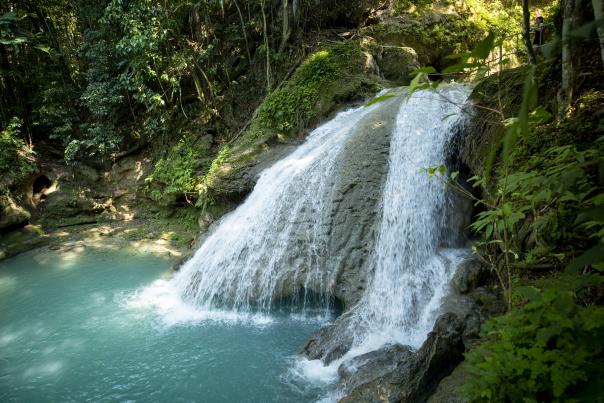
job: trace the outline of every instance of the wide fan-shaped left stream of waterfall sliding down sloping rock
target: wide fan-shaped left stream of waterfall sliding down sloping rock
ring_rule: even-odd
[[[329,202],[338,156],[354,127],[379,105],[341,112],[265,170],[174,282],[202,309],[268,312],[280,299],[329,304]],[[310,293],[309,291],[312,291]],[[315,298],[315,299],[316,299]],[[317,301],[315,301],[317,302]]]

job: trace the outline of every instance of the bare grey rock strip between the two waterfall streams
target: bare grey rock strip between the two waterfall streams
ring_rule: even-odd
[[[345,308],[362,296],[373,249],[379,205],[388,173],[390,136],[401,97],[384,101],[356,128],[338,163],[329,252],[337,270],[335,296]]]

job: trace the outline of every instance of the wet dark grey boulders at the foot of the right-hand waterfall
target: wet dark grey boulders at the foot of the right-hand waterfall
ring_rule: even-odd
[[[344,396],[341,402],[463,401],[460,385],[455,383],[459,377],[445,377],[478,339],[481,324],[503,309],[500,298],[489,288],[491,282],[490,273],[477,259],[464,260],[451,280],[450,294],[441,307],[443,314],[419,350],[387,345],[345,361],[338,370],[338,389]],[[326,364],[342,357],[353,342],[347,327],[345,313],[314,334],[303,354]],[[462,370],[454,374],[459,372]]]

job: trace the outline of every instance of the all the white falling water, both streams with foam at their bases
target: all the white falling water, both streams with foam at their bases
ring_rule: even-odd
[[[390,166],[368,288],[352,308],[351,350],[329,366],[300,360],[294,371],[331,381],[351,357],[386,343],[418,348],[432,329],[446,285],[466,254],[456,249],[451,198],[426,168],[444,163],[469,91],[444,86],[404,101],[392,134]],[[227,215],[170,280],[141,292],[168,324],[187,320],[270,320],[278,295],[329,308],[329,202],[338,157],[355,126],[380,104],[338,114],[295,152],[264,171],[248,199]],[[315,301],[310,301],[311,297]],[[136,302],[138,301],[138,302]],[[141,302],[142,301],[142,302]],[[322,319],[326,317],[319,316]]]

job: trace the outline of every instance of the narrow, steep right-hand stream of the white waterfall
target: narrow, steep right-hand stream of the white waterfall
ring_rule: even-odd
[[[415,92],[399,110],[375,272],[351,321],[357,345],[371,335],[419,347],[432,330],[456,262],[467,254],[451,248],[460,243],[452,195],[426,168],[445,162],[468,94],[461,86]]]

